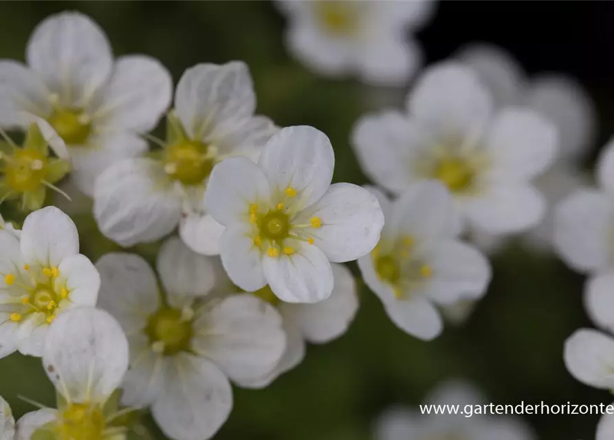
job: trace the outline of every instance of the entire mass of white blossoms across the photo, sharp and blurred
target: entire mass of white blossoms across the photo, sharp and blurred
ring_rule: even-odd
[[[300,60],[379,85],[417,71],[406,31],[434,9],[276,3]],[[0,217],[0,357],[42,358],[58,401],[14,423],[0,399],[1,439],[125,440],[148,408],[169,438],[209,439],[232,410],[231,383],[263,388],[300,364],[307,342],[348,329],[359,306],[342,264],[351,261],[399,329],[432,340],[444,316],[487,292],[492,270],[479,248],[538,234],[594,275],[586,305],[614,331],[614,146],[600,162],[602,190],[548,209],[579,185],[573,166],[593,135],[590,101],[567,80],[529,81],[490,47],[428,67],[404,110],[356,122],[351,144],[377,185],[360,187],[332,183],[325,133],[256,114],[242,62],[190,67],[173,99],[160,62],[114,61],[98,25],[74,12],[45,19],[26,59],[0,61],[0,126],[25,133],[18,145],[0,129],[0,201],[28,214],[19,228]],[[163,116],[161,140],[149,132]],[[91,198],[100,232],[122,248],[159,243],[155,267],[134,250],[89,261],[72,219],[46,206],[60,204],[47,190]],[[75,204],[67,211],[83,209]],[[613,338],[580,331],[565,359],[583,382],[614,388]],[[448,388],[432,401],[479,401]],[[532,436],[516,421],[457,422],[397,411],[376,437]]]

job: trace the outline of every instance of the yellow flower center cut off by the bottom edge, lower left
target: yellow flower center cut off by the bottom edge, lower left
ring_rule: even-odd
[[[105,417],[99,406],[69,404],[58,420],[59,440],[102,440]]]

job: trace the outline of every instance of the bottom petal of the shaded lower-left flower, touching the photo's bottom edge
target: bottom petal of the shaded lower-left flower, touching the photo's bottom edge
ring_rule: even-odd
[[[217,366],[192,355],[179,355],[164,377],[164,388],[151,412],[166,436],[203,440],[223,425],[232,408],[232,389]]]

